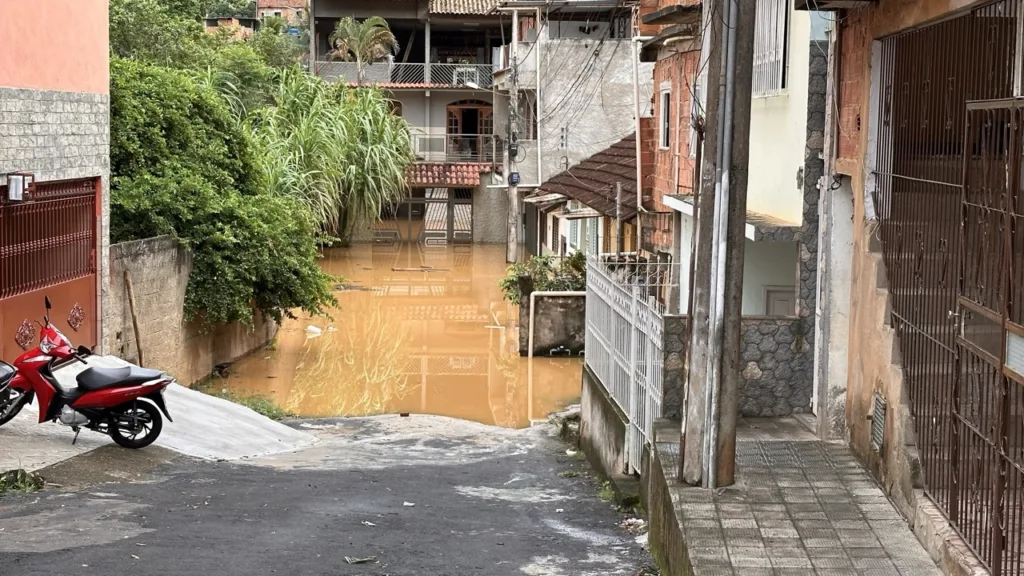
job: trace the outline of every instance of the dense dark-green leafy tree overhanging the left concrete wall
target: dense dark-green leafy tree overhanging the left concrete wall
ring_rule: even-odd
[[[114,58],[111,117],[111,239],[174,234],[189,246],[189,319],[251,322],[260,310],[280,320],[333,302],[312,218],[267,191],[249,135],[216,91],[184,72]]]

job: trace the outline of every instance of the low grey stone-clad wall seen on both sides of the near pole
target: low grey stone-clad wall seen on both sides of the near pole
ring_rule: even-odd
[[[686,380],[688,318],[666,316],[662,416],[682,416]],[[746,317],[742,321],[742,416],[788,416],[807,411],[811,404],[813,349],[809,325],[793,317]]]

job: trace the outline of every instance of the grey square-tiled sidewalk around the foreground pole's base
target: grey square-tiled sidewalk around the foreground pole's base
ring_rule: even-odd
[[[849,448],[795,420],[744,424],[736,485],[718,493],[675,486],[678,440],[658,442],[694,574],[942,574]]]

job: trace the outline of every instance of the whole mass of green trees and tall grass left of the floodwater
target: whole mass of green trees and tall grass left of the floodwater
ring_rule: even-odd
[[[111,237],[188,245],[185,312],[208,326],[334,304],[317,244],[400,198],[412,161],[387,100],[302,71],[284,20],[204,31],[251,4],[111,0]]]

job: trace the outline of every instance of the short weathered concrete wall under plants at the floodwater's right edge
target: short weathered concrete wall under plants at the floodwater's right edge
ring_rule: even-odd
[[[586,343],[586,296],[537,296],[534,313],[534,356],[549,356],[559,346],[579,356]],[[529,355],[529,298],[519,304],[519,355]]]

